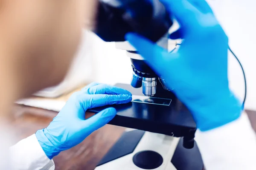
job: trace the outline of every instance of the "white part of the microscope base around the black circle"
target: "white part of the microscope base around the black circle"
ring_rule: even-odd
[[[175,165],[172,164],[172,161],[171,161],[179,141],[180,141],[180,138],[166,136],[163,134],[145,132],[142,138],[140,139],[140,141],[135,146],[135,149],[133,150],[132,153],[126,154],[124,156],[117,156],[116,159],[112,159],[107,162],[106,161],[103,163],[101,162],[100,165],[97,166],[95,170],[144,170],[146,168],[143,169],[143,168],[137,167],[134,164],[133,157],[135,154],[141,151],[148,151],[148,150],[159,153],[163,158],[163,163],[159,167],[153,168],[154,170],[180,170],[180,169],[176,169]],[[125,141],[123,140],[122,142],[125,142]],[[121,152],[122,149],[125,149],[125,148],[118,148],[118,147],[115,147],[115,148],[116,148],[115,149],[116,151],[112,152],[113,151],[112,150],[111,151],[112,153],[109,155],[107,154],[105,157],[111,157],[113,156],[113,154],[115,153],[118,154],[119,151]],[[146,159],[147,158],[144,158],[141,161],[144,164],[147,164],[145,163],[147,161]],[[201,166],[203,168],[203,165]],[[202,168],[201,169],[199,168],[199,170],[202,170]],[[183,170],[183,168],[181,169]],[[191,170],[195,170],[195,169],[191,169]]]

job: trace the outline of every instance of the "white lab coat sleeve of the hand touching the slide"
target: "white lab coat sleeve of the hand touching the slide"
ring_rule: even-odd
[[[15,170],[54,170],[55,164],[50,160],[35,134],[10,147],[10,158]]]

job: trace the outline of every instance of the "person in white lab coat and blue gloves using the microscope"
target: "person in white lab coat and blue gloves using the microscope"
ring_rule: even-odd
[[[227,36],[204,0],[162,2],[182,26],[172,36],[186,40],[179,51],[169,54],[137,34],[126,38],[157,73],[165,73],[192,112],[207,170],[255,169],[256,136],[228,87]],[[92,83],[73,94],[47,128],[9,150],[13,102],[63,79],[84,21],[94,23],[95,6],[94,0],[0,1],[1,169],[54,169],[54,156],[82,142],[116,114],[108,108],[84,120],[88,108],[131,101],[128,91]]]

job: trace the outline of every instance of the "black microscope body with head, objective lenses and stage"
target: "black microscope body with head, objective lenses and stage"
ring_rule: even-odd
[[[102,1],[99,0],[98,26],[94,32],[106,42],[124,42],[125,34],[128,32],[135,32],[153,42],[158,42],[168,34],[173,24],[170,12],[166,11],[159,0],[113,0],[113,3]],[[127,51],[139,54],[136,50]],[[191,154],[199,155],[198,162],[202,164],[194,140],[197,130],[195,121],[190,111],[173,93],[174,89],[171,85],[167,85],[164,77],[157,75],[143,59],[131,58],[131,69],[134,71],[131,85],[116,84],[117,87],[130,91],[133,96],[170,99],[171,102],[169,105],[143,101],[111,105],[116,109],[117,114],[108,124],[180,137],[178,145],[180,148],[176,149],[177,152],[186,155],[187,150],[193,150],[190,157]],[[107,107],[109,106],[92,108],[89,111],[98,113]]]

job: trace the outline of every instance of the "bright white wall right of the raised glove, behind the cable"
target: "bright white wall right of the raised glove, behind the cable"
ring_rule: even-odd
[[[247,79],[245,108],[256,110],[256,1],[208,0],[229,37],[233,52],[239,57]],[[230,88],[244,97],[244,79],[238,62],[229,55]]]

